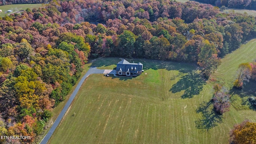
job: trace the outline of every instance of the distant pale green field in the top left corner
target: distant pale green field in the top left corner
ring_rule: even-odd
[[[32,10],[33,8],[39,8],[39,7],[42,7],[42,4],[10,4],[10,5],[0,6],[0,10],[2,10],[2,12],[0,13],[0,17],[4,17],[7,14],[12,14],[19,10],[26,10],[27,8],[30,8]],[[13,12],[5,14],[5,11],[7,10],[13,10]]]

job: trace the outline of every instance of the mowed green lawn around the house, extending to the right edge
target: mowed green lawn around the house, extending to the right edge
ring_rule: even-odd
[[[256,39],[222,60],[212,76],[232,86],[238,65],[256,57]],[[113,68],[118,58],[99,58],[92,66]],[[146,143],[226,144],[234,124],[256,122],[256,112],[212,112],[212,86],[194,64],[134,59],[145,72],[136,78],[92,74],[84,82],[50,144]]]

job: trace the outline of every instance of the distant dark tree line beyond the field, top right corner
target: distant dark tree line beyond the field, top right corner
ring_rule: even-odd
[[[196,0],[216,6],[227,6],[230,8],[242,8],[256,10],[256,0]]]

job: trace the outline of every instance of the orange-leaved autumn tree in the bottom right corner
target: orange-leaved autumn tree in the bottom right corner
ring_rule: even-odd
[[[256,123],[244,120],[236,124],[229,135],[230,144],[256,144]]]

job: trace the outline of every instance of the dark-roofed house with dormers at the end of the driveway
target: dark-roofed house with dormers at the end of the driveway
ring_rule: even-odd
[[[116,65],[116,75],[120,76],[139,76],[142,73],[142,63],[130,63],[123,59]]]

